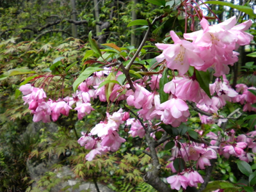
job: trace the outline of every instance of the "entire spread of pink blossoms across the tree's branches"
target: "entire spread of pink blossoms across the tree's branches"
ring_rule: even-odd
[[[210,113],[212,116],[200,115],[202,124],[218,124],[227,122],[227,118],[219,115],[219,110],[225,106],[227,102],[240,102],[244,104],[244,111],[256,111],[251,104],[256,102],[256,97],[248,90],[256,90],[256,88],[248,88],[244,84],[237,84],[236,90],[231,88],[225,74],[228,74],[228,65],[233,65],[238,60],[238,53],[234,51],[239,45],[249,44],[253,36],[244,32],[252,24],[251,20],[236,25],[236,17],[232,17],[220,24],[209,26],[206,19],[200,22],[203,30],[193,33],[185,33],[186,40],[180,40],[174,31],[170,31],[170,36],[174,44],[156,44],[163,50],[163,53],[157,56],[159,63],[166,64],[171,70],[177,70],[179,74],[173,76],[172,81],[164,84],[164,92],[168,93],[168,100],[160,101],[159,80],[162,75],[157,74],[124,85],[115,84],[111,94],[106,95],[105,86],[100,83],[105,81],[105,77],[112,72],[116,72],[116,68],[104,68],[103,71],[93,73],[78,87],[76,93],[72,97],[51,100],[47,99],[42,88],[35,88],[31,84],[20,87],[20,91],[25,95],[23,97],[24,104],[29,104],[29,109],[33,116],[33,121],[50,122],[58,120],[60,115],[68,116],[70,109],[77,111],[77,117],[81,120],[84,116],[90,114],[94,109],[91,102],[99,98],[100,101],[111,102],[125,100],[128,106],[138,109],[138,116],[143,122],[150,124],[153,120],[158,120],[172,127],[179,127],[182,122],[186,122],[190,116],[188,102],[195,102],[196,107]],[[189,67],[194,67],[198,71],[206,71],[213,68],[216,81],[209,84],[210,95],[200,87],[195,73],[188,75]],[[174,73],[173,73],[174,74]],[[116,72],[115,79],[123,75],[122,72]],[[223,80],[221,80],[221,77]],[[134,86],[134,92],[131,89]],[[74,107],[76,105],[76,107]],[[96,155],[106,154],[106,152],[115,152],[120,148],[121,143],[125,142],[118,134],[120,125],[130,126],[129,133],[132,137],[139,136],[143,138],[147,131],[146,124],[141,124],[138,119],[130,118],[128,112],[119,109],[110,115],[106,113],[106,119],[90,130],[90,132],[82,132],[78,143],[84,148],[91,150],[86,155],[88,161]],[[156,129],[159,127],[156,126]],[[159,130],[163,131],[163,129]],[[173,175],[167,178],[167,182],[172,189],[179,190],[180,187],[186,189],[187,186],[197,187],[198,183],[204,182],[202,177],[192,167],[186,167],[184,170],[175,170],[173,161],[177,158],[183,161],[195,161],[196,169],[205,169],[205,166],[211,166],[210,160],[216,159],[217,154],[226,158],[230,156],[239,157],[239,159],[251,162],[252,153],[248,152],[251,148],[256,152],[256,143],[250,138],[256,136],[255,131],[243,134],[235,138],[235,131],[225,132],[225,136],[221,138],[220,145],[216,145],[219,136],[214,132],[207,134],[212,139],[211,145],[205,143],[196,143],[188,141],[181,143],[179,138],[175,139],[175,146],[172,148],[172,157],[168,168],[172,169]],[[154,134],[151,135],[157,140]],[[246,150],[247,149],[247,150]]]

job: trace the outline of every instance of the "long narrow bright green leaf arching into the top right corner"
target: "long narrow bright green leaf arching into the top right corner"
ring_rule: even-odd
[[[247,15],[255,17],[255,14],[253,13],[253,9],[248,6],[237,5],[237,4],[228,3],[224,1],[206,1],[205,4],[218,4],[222,6],[229,6],[230,8],[237,9],[241,12],[246,13]]]

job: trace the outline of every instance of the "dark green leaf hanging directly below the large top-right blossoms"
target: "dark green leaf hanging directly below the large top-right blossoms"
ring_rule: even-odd
[[[198,71],[195,70],[196,72],[196,80],[200,84],[200,87],[205,91],[205,93],[211,98],[211,93],[210,93],[210,72],[204,72],[204,71]]]

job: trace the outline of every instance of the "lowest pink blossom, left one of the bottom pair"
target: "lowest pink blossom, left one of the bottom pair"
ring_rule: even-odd
[[[168,184],[170,184],[172,189],[176,189],[179,190],[180,186],[182,186],[182,188],[186,189],[188,186],[188,182],[189,180],[183,176],[183,175],[173,175],[170,176],[168,178],[166,178]]]

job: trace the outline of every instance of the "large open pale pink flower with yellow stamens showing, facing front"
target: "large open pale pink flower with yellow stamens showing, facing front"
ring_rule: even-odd
[[[195,68],[204,65],[204,61],[198,56],[199,49],[194,44],[186,40],[180,40],[174,31],[170,31],[173,45],[156,44],[158,49],[162,49],[163,53],[156,57],[158,62],[166,59],[168,68],[179,70],[179,74],[183,75],[188,71],[189,65]]]

